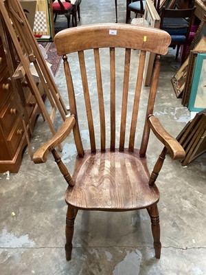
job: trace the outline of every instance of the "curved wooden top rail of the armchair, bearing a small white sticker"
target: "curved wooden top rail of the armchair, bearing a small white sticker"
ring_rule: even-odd
[[[54,43],[59,56],[100,47],[124,47],[167,54],[170,35],[156,28],[105,23],[84,25],[58,32]]]

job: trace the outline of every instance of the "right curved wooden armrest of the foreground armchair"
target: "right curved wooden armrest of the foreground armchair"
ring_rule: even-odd
[[[168,149],[172,159],[184,159],[185,151],[183,147],[174,137],[172,137],[172,135],[165,131],[165,129],[159,122],[159,119],[156,118],[154,115],[150,115],[148,120],[152,132]]]

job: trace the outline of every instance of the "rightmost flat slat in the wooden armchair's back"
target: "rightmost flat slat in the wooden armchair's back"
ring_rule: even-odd
[[[129,146],[128,150],[130,152],[134,151],[134,144],[135,144],[135,132],[137,127],[137,117],[138,117],[138,111],[139,111],[139,100],[141,95],[141,86],[142,86],[142,79],[144,74],[144,65],[146,60],[146,52],[141,51],[139,55],[139,69],[137,74],[137,83],[135,87],[135,98],[134,98],[134,104],[133,104],[133,116],[130,126],[130,138],[129,138]]]

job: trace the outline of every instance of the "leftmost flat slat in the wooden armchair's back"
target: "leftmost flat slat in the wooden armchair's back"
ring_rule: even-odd
[[[84,61],[84,52],[80,51],[78,52],[79,61],[80,61],[80,72],[82,76],[82,85],[83,85],[83,91],[84,91],[84,100],[85,105],[87,109],[87,120],[89,125],[89,137],[90,137],[90,144],[91,144],[91,152],[95,153],[96,146],[95,146],[95,134],[94,134],[94,127],[93,127],[93,115],[91,111],[91,101],[89,96],[89,87],[88,87],[88,81],[87,81],[87,71]]]

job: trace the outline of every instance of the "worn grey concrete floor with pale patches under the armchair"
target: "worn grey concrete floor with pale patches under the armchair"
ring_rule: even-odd
[[[114,22],[113,2],[82,1],[81,24]],[[125,2],[118,3],[119,23],[125,20]],[[58,17],[59,22],[64,20]],[[138,53],[133,51],[133,54]],[[174,136],[190,120],[190,112],[176,98],[170,83],[179,65],[174,60],[174,52],[163,57],[155,106],[155,114]],[[62,65],[55,81],[67,101]],[[145,88],[144,92],[147,91]],[[57,116],[56,128],[60,123]],[[86,123],[81,121],[80,124],[87,146]],[[47,124],[38,118],[32,137],[34,151],[50,136]],[[161,148],[152,135],[148,153],[152,164]],[[72,137],[69,137],[63,143],[61,155],[70,171],[75,153]],[[0,274],[206,274],[205,172],[206,155],[185,168],[166,157],[157,181],[161,194],[160,260],[154,257],[146,210],[80,211],[73,236],[73,259],[67,262],[64,250],[67,184],[52,157],[48,157],[46,164],[35,165],[25,151],[19,173],[11,174],[9,179],[0,175]]]

